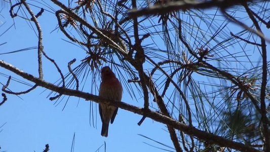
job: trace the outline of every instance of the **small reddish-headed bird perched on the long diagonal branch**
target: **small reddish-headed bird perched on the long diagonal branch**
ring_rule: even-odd
[[[108,66],[104,66],[101,69],[101,81],[99,96],[121,101],[122,85]],[[117,111],[118,107],[99,103],[99,115],[102,121],[101,136],[108,136],[109,122],[113,123]]]

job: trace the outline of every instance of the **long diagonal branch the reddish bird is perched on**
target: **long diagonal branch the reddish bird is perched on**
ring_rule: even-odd
[[[58,92],[59,94],[80,97],[80,98],[84,98],[87,100],[92,100],[92,101],[97,102],[97,103],[105,103],[105,104],[117,106],[117,107],[120,107],[122,109],[137,113],[138,115],[146,116],[146,117],[148,117],[152,120],[155,120],[157,122],[170,125],[173,128],[181,130],[188,135],[196,136],[201,140],[205,140],[209,143],[217,144],[217,145],[222,146],[222,147],[229,147],[229,148],[233,148],[233,149],[240,150],[240,151],[259,151],[257,149],[254,149],[254,148],[248,146],[248,145],[244,145],[243,143],[234,142],[234,141],[225,139],[223,137],[220,137],[220,136],[217,136],[217,135],[214,135],[211,133],[207,133],[205,131],[198,130],[194,127],[184,125],[184,124],[182,124],[182,123],[180,123],[180,122],[178,122],[170,117],[162,115],[159,112],[145,110],[144,108],[136,107],[136,106],[127,104],[125,102],[114,102],[113,100],[104,99],[104,98],[101,98],[99,96],[85,93],[85,92],[78,91],[78,90],[71,90],[71,89],[67,89],[67,88],[58,87],[56,85],[53,85],[51,83],[45,82],[41,79],[38,79],[31,74],[25,73],[24,71],[12,66],[11,64],[6,63],[3,60],[0,60],[0,66],[16,73],[17,75],[20,75],[22,78],[24,78],[28,81],[31,81],[38,86],[44,87],[44,88],[52,90],[54,92]]]

